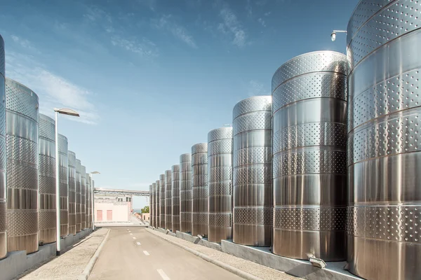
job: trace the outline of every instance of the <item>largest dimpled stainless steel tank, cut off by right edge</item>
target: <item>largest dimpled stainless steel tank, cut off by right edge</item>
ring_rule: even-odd
[[[421,1],[359,1],[348,24],[347,261],[421,276]]]

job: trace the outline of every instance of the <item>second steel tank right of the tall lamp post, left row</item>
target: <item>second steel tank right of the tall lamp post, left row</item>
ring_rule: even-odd
[[[76,154],[68,151],[69,162],[69,235],[76,235]]]

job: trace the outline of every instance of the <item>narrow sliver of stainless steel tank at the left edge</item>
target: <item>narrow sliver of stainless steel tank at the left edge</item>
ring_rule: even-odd
[[[7,255],[6,202],[6,89],[4,40],[0,36],[0,259]]]

